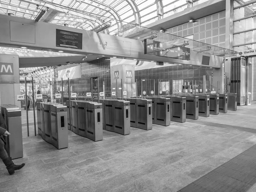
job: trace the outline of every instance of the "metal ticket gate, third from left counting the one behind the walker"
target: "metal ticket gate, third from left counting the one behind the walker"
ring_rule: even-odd
[[[102,104],[79,100],[70,102],[71,131],[93,141],[103,140]]]

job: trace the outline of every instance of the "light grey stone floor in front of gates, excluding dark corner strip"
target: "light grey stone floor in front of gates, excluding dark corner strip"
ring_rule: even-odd
[[[98,142],[69,131],[61,150],[34,136],[33,111],[26,137],[22,114],[24,157],[14,162],[26,166],[8,175],[0,163],[1,192],[177,192],[256,144],[256,105],[126,136],[103,131]]]

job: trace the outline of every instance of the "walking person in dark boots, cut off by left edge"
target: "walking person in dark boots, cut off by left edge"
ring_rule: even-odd
[[[6,166],[7,171],[10,175],[13,175],[16,170],[19,170],[25,166],[25,163],[21,165],[15,165],[12,162],[12,157],[9,157],[8,153],[6,152],[4,145],[6,144],[3,136],[9,136],[10,133],[6,130],[7,125],[5,120],[3,119],[2,114],[0,114],[0,158],[3,160],[3,163]]]

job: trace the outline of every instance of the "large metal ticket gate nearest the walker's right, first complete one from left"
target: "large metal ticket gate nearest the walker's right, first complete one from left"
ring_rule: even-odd
[[[67,106],[49,102],[37,103],[38,134],[56,148],[68,147]]]

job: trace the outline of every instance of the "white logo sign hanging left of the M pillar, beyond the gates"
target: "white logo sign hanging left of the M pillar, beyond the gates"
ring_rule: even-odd
[[[58,81],[81,78],[81,65],[58,71]]]

